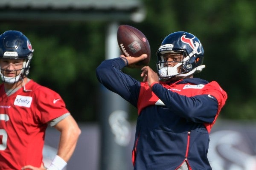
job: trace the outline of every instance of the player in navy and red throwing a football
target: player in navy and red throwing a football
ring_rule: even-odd
[[[147,57],[103,61],[99,82],[138,109],[134,170],[211,170],[209,133],[227,94],[216,81],[193,75],[204,68],[204,49],[193,34],[169,34],[157,51],[157,73],[142,68],[140,82],[121,70]]]

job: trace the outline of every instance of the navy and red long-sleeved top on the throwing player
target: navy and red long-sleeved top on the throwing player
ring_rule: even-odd
[[[188,78],[177,82],[139,82],[124,74],[121,58],[103,61],[96,76],[106,88],[138,108],[134,170],[211,170],[209,132],[227,99],[217,82]]]

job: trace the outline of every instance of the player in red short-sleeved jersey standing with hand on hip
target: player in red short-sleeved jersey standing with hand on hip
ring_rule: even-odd
[[[20,31],[0,35],[1,170],[62,170],[81,133],[61,96],[27,77],[33,51]],[[57,155],[46,168],[42,151],[48,125],[61,135]]]

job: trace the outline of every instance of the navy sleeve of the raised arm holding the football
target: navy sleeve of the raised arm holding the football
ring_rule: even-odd
[[[125,61],[120,57],[104,60],[96,68],[96,77],[110,91],[119,94],[126,101],[137,107],[140,82],[124,74],[121,71],[124,67]]]

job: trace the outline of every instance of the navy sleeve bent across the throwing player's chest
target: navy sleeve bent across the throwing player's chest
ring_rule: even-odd
[[[188,97],[169,91],[158,83],[153,85],[152,91],[171,113],[178,114],[187,121],[212,123],[218,112],[218,101],[212,95],[201,94]]]

